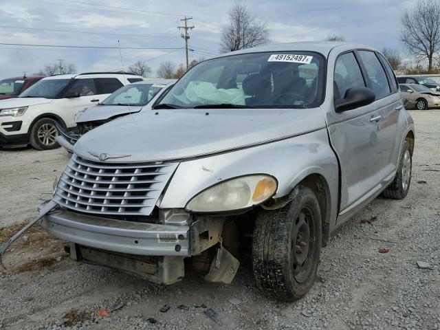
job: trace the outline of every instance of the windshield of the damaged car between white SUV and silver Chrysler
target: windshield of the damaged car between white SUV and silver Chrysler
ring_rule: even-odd
[[[104,105],[138,105],[143,106],[164,88],[165,85],[127,85],[115,91],[111,96],[106,98],[102,104]]]

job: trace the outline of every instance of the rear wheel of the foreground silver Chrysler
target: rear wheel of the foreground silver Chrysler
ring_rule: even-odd
[[[392,199],[404,199],[408,195],[411,184],[412,153],[408,141],[402,146],[397,172],[393,182],[386,187],[382,195]],[[409,171],[409,172],[408,172]]]

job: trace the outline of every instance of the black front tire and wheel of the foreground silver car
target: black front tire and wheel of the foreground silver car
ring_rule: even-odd
[[[263,210],[256,217],[252,242],[256,285],[263,294],[277,300],[302,298],[314,284],[321,245],[318,200],[311,189],[299,186],[296,197],[286,206]]]

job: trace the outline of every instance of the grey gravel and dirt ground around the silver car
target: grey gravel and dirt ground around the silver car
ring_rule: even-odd
[[[170,287],[78,264],[36,225],[5,256],[0,329],[440,329],[440,111],[411,114],[417,136],[408,197],[379,197],[343,225],[303,300],[261,296],[246,263],[232,285],[189,276]],[[0,150],[0,160],[4,242],[50,199],[68,157],[27,148]]]

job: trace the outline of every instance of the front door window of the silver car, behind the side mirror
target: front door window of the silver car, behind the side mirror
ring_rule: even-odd
[[[336,98],[344,98],[349,88],[365,87],[362,72],[353,53],[342,54],[338,57],[333,80],[335,91],[339,93],[339,97],[335,94]]]

